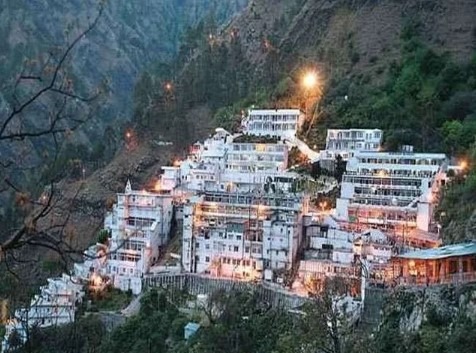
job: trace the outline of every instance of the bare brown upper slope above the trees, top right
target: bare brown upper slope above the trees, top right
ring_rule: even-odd
[[[399,56],[399,37],[418,19],[422,38],[438,52],[468,61],[476,48],[474,1],[253,1],[228,26],[238,29],[252,64],[276,50],[287,69],[315,62],[327,71],[376,69]],[[263,45],[268,39],[272,49]]]

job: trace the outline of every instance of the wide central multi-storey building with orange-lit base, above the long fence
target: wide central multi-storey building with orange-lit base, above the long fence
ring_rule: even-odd
[[[289,195],[215,192],[184,206],[182,264],[187,272],[261,279],[290,269],[307,202]]]

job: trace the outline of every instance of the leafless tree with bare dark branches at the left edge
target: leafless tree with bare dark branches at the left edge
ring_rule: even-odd
[[[88,94],[78,93],[68,62],[75,48],[94,31],[102,13],[100,6],[87,27],[59,53],[50,52],[38,61],[26,62],[14,80],[11,94],[2,92],[9,102],[3,110],[0,105],[0,156],[18,148],[18,144],[31,146],[42,141],[51,146],[53,155],[49,160],[55,163],[62,142],[92,118],[105,88],[99,85]],[[51,181],[42,193],[35,194],[25,189],[17,176],[18,171],[32,168],[38,172],[38,166],[22,163],[13,153],[0,160],[0,198],[16,195],[14,202],[25,210],[23,221],[0,237],[0,263],[7,267],[19,260],[19,250],[25,246],[53,250],[63,257],[76,251],[66,230],[79,190],[64,197]]]

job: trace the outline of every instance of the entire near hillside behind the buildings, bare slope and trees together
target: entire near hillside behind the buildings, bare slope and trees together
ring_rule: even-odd
[[[471,13],[476,4],[469,1],[251,2],[224,29],[213,18],[190,29],[173,65],[156,65],[142,76],[135,96],[138,130],[186,145],[214,126],[233,129],[252,105],[299,106],[314,112],[301,137],[316,148],[324,147],[328,128],[381,128],[388,150],[411,144],[416,151],[445,152],[455,163],[471,162]],[[457,24],[442,23],[442,14]],[[319,74],[316,92],[300,86],[307,70]],[[170,72],[173,90],[164,88]],[[203,114],[190,114],[197,107]],[[455,213],[440,220],[447,241],[475,236],[473,187],[469,175],[445,192],[441,212]],[[464,212],[453,209],[461,192]]]

